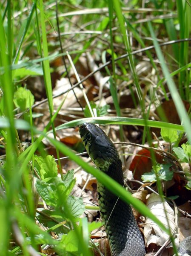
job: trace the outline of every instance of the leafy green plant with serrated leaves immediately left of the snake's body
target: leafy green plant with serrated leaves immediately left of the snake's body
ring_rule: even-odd
[[[68,171],[68,173],[64,175],[63,180],[61,180],[57,177],[57,167],[54,162],[54,157],[46,156],[43,159],[42,157],[36,156],[35,162],[39,169],[39,174],[43,179],[37,180],[37,191],[46,204],[52,207],[51,210],[43,210],[43,213],[51,216],[51,218],[61,219],[62,221],[65,219],[66,224],[70,221],[74,224],[75,221],[79,220],[85,210],[83,199],[70,195],[75,185],[74,170]],[[64,230],[59,227],[60,225],[54,228],[54,222],[52,221],[49,221],[47,225],[51,230],[57,230],[61,236],[61,240],[55,247],[55,250],[59,253],[63,253],[63,251],[77,253],[80,246],[76,230],[70,230],[66,234],[63,233]],[[96,226],[96,224],[91,224],[89,232],[92,230],[92,227]],[[80,227],[80,225],[76,226],[76,228],[81,232],[82,227]]]

